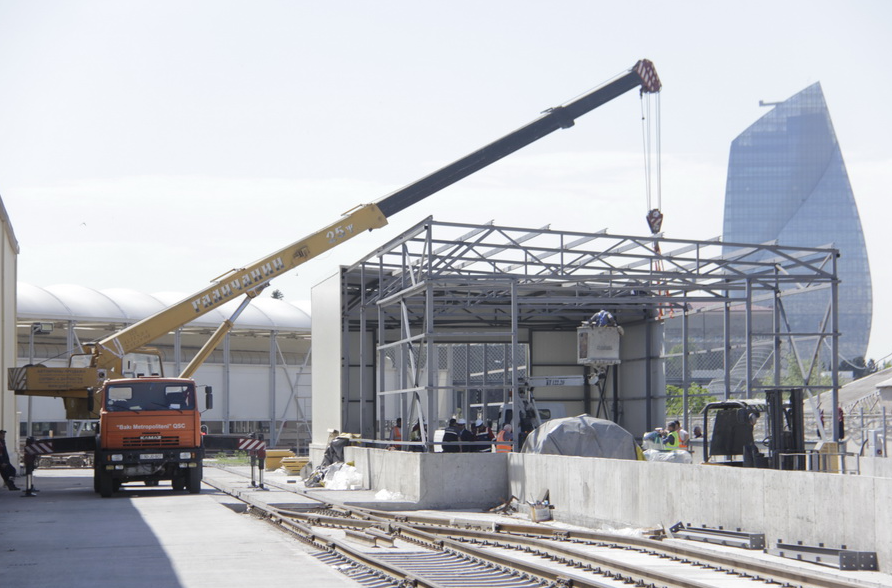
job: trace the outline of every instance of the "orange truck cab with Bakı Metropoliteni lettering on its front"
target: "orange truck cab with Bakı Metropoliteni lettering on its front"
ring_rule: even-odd
[[[210,390],[206,403],[210,404]],[[125,482],[174,490],[201,487],[204,448],[195,382],[186,378],[108,380],[99,394],[93,487],[109,497]]]

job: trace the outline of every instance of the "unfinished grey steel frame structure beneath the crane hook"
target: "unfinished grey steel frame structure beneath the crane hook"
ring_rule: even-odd
[[[797,341],[816,340],[816,349],[822,344],[831,347],[832,384],[809,386],[806,381],[806,387],[832,388],[835,410],[839,387],[835,359],[839,338],[837,257],[837,250],[829,246],[580,233],[548,226],[529,229],[440,222],[429,217],[342,268],[344,385],[350,388],[350,368],[354,368],[353,377],[359,374],[354,389],[358,388],[360,406],[374,402],[378,407],[383,397],[396,395],[404,423],[412,414],[413,398],[427,392],[427,406],[422,408],[431,422],[437,422],[436,398],[452,388],[448,382],[437,381],[436,370],[425,369],[426,358],[437,357],[438,344],[502,342],[517,346],[522,329],[575,331],[591,317],[593,309],[606,308],[620,325],[643,325],[646,349],[651,349],[653,337],[661,332],[652,327],[665,317],[680,317],[686,325],[692,314],[712,309],[725,315],[725,398],[749,398],[763,385],[778,385],[780,361],[773,362],[772,382],[762,384],[755,377],[755,346],[770,341],[775,358],[779,358],[784,340],[794,349]],[[782,299],[824,289],[829,289],[830,296],[823,323],[808,333],[785,328]],[[752,310],[756,304],[773,309],[770,331],[754,329]],[[740,305],[746,316],[745,332],[731,333],[728,316],[732,306]],[[366,336],[358,337],[358,345],[351,345],[351,333]],[[733,366],[728,350],[732,339],[745,346],[746,377],[741,389],[734,389],[731,383]],[[377,369],[385,356],[397,374],[390,382],[384,370]],[[650,366],[665,360],[667,354],[645,352],[645,356],[643,360]],[[681,353],[685,373],[689,356],[685,335]],[[810,374],[818,361],[817,351],[810,358],[796,352],[796,359],[801,373]],[[505,383],[511,389],[517,389],[519,380],[516,363],[506,371]],[[374,377],[363,377],[368,369],[375,370]],[[368,382],[375,382],[374,390],[368,389]],[[664,396],[665,391],[652,387],[648,377],[647,399]],[[349,393],[344,397],[349,398]],[[342,409],[347,423],[347,407]],[[645,410],[650,421],[651,402]],[[363,412],[359,410],[360,421],[366,418]],[[375,414],[376,435],[381,438],[383,416]],[[351,423],[350,430],[356,430],[357,424],[359,430],[367,430],[363,425],[368,423],[362,422]]]

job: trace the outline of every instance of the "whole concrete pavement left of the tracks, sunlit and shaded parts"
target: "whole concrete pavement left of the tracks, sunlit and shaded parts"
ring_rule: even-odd
[[[358,586],[206,485],[198,495],[128,485],[103,499],[92,470],[47,469],[35,487],[34,497],[0,490],[2,586]]]

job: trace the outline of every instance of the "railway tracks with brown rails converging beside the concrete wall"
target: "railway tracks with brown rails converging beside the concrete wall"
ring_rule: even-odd
[[[239,472],[228,470],[242,475]],[[571,530],[499,520],[457,520],[321,502],[286,485],[267,484],[317,504],[271,506],[281,492],[233,492],[206,470],[205,483],[288,531],[316,557],[364,586],[581,588],[864,588],[787,562],[652,537]],[[743,550],[741,550],[743,551]]]

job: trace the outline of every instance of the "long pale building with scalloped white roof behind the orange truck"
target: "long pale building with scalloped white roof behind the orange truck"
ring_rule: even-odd
[[[19,283],[17,321],[4,321],[17,324],[17,345],[8,347],[10,362],[65,366],[82,344],[184,298],[185,293]],[[162,352],[164,374],[179,374],[233,309],[232,304],[224,305],[155,341],[152,346]],[[273,445],[305,451],[311,414],[309,335],[308,304],[256,298],[195,374],[199,385],[214,391],[214,407],[203,414],[209,432],[261,432]],[[85,425],[66,420],[59,398],[20,396],[17,411],[23,437],[76,435]],[[11,430],[14,422],[8,424]]]

